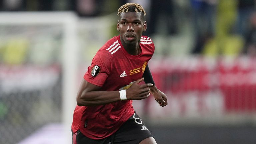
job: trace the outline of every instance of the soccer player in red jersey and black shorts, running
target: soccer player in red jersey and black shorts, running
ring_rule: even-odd
[[[156,144],[132,100],[154,96],[167,105],[147,66],[154,44],[147,36],[142,6],[127,3],[118,9],[120,35],[108,40],[94,56],[77,94],[73,144]],[[145,81],[145,84],[140,82]]]

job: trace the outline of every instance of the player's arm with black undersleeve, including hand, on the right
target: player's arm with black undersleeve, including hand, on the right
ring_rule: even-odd
[[[157,89],[157,87],[155,86],[155,82],[153,80],[153,77],[151,75],[151,72],[149,70],[149,67],[148,65],[146,66],[145,68],[145,71],[143,73],[143,76],[144,77],[144,81],[145,83],[152,83],[153,86],[150,87],[150,93],[153,94],[156,102],[159,103],[160,106],[166,106],[168,103],[167,103],[167,97],[166,95],[161,92],[159,89]]]

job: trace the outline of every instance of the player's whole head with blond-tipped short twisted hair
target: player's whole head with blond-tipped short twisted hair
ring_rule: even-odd
[[[127,3],[118,9],[120,19],[117,23],[117,30],[120,32],[121,39],[126,44],[134,44],[140,40],[143,31],[147,29],[144,21],[146,12],[137,3]]]

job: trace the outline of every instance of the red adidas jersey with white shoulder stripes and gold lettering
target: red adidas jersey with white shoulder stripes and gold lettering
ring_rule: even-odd
[[[108,40],[92,60],[84,79],[100,86],[100,91],[116,91],[129,88],[142,78],[148,61],[154,53],[154,43],[147,36],[140,40],[141,53],[130,55],[122,46],[120,36]],[[123,100],[99,106],[76,106],[72,131],[80,130],[90,139],[102,139],[112,135],[132,115],[132,100]]]

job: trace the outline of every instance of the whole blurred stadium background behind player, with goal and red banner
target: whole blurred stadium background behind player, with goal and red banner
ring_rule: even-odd
[[[0,0],[0,143],[71,143],[82,76],[138,2],[166,107],[134,101],[159,144],[256,143],[254,0]]]

